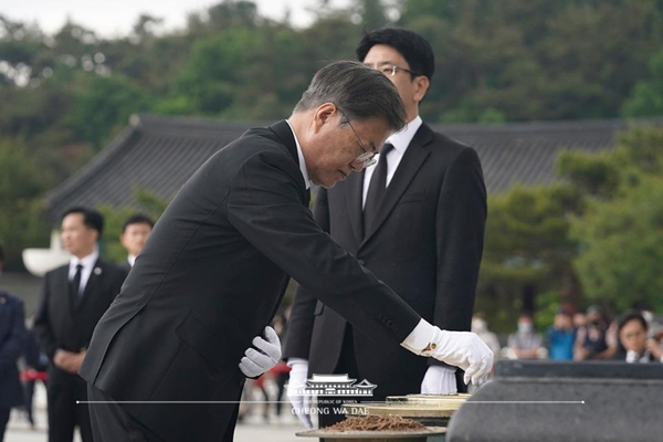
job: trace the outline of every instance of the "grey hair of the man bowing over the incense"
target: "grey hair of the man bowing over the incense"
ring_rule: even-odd
[[[334,103],[350,120],[377,117],[393,131],[408,123],[396,86],[381,72],[356,61],[334,62],[319,70],[294,112],[324,103]]]

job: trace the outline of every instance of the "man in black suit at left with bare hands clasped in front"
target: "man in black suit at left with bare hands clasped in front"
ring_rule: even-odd
[[[86,385],[77,375],[92,332],[119,293],[126,272],[99,260],[97,241],[104,219],[86,208],[62,217],[63,248],[69,264],[44,276],[42,298],[34,317],[36,339],[49,357],[49,441],[71,442],[75,427],[84,442],[92,441]]]

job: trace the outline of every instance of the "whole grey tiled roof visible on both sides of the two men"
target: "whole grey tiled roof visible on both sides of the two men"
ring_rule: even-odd
[[[663,119],[645,123],[657,126]],[[133,116],[129,125],[97,157],[46,196],[55,221],[72,206],[134,207],[135,189],[169,199],[217,150],[252,126],[264,124]],[[438,131],[473,146],[481,157],[488,193],[515,182],[556,179],[560,149],[599,151],[614,146],[625,120],[523,123],[499,126],[433,125]]]

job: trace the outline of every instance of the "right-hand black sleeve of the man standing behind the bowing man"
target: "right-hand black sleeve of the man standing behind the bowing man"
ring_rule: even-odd
[[[470,330],[487,215],[476,151],[463,148],[449,167],[436,210],[438,283],[434,325]],[[429,364],[443,365],[435,360]]]

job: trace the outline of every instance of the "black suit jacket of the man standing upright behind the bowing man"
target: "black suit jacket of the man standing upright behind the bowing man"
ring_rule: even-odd
[[[365,236],[362,182],[357,173],[322,189],[315,220],[423,318],[442,329],[470,330],[486,220],[474,149],[422,124]],[[308,359],[311,373],[333,373],[347,323],[314,295],[306,287],[296,293],[284,357]],[[388,355],[357,330],[354,345],[359,376],[378,386],[377,397],[419,392],[425,359],[404,349]]]

